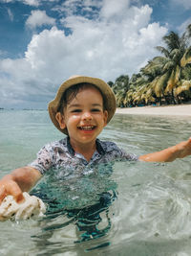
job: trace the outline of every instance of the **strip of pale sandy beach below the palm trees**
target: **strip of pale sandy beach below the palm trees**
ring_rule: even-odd
[[[159,115],[159,116],[188,116],[191,117],[191,105],[136,106],[117,108],[119,114],[130,115]]]

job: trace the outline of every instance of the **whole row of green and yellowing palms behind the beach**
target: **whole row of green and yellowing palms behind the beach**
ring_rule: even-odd
[[[191,101],[191,24],[180,36],[163,36],[157,46],[160,56],[147,62],[138,74],[121,75],[109,81],[117,106],[175,105]]]

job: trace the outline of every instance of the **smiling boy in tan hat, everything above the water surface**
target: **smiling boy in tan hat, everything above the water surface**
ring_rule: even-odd
[[[191,154],[191,138],[139,157],[120,150],[115,143],[99,141],[96,137],[115,111],[115,95],[105,81],[84,76],[64,81],[49,104],[49,113],[53,125],[67,134],[67,138],[42,148],[29,166],[5,175],[0,180],[0,203],[8,195],[17,202],[23,201],[22,193],[30,191],[50,168],[55,172],[59,167],[83,172],[115,159],[168,162]]]

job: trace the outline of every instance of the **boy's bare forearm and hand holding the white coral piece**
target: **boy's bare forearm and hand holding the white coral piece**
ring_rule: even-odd
[[[24,199],[23,192],[30,191],[42,175],[32,167],[15,169],[0,180],[0,204],[8,195],[17,202]]]

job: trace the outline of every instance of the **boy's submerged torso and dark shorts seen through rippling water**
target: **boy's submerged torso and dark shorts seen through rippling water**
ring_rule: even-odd
[[[46,218],[41,221],[42,232],[35,239],[47,239],[47,231],[53,235],[55,230],[75,224],[81,232],[74,243],[81,243],[104,236],[111,227],[108,217],[109,206],[117,198],[117,183],[110,179],[112,165],[99,165],[90,175],[74,174],[71,170],[51,170],[49,175],[32,190],[32,195],[42,198],[48,205]],[[64,175],[61,175],[64,174]],[[104,213],[107,225],[99,228]],[[67,221],[54,223],[62,216]],[[51,235],[51,236],[52,236]],[[38,241],[38,240],[36,240]]]

